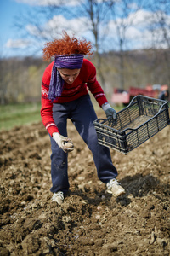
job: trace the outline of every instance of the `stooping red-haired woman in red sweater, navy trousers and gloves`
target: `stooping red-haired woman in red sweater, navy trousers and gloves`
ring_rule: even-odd
[[[63,203],[70,186],[67,153],[73,150],[73,144],[67,137],[67,119],[71,119],[92,151],[98,177],[106,184],[107,192],[117,196],[125,193],[116,181],[117,171],[112,164],[110,150],[98,144],[94,129],[97,116],[87,86],[107,118],[116,119],[116,111],[111,108],[96,79],[94,65],[84,59],[84,55],[93,54],[91,49],[90,42],[71,38],[66,32],[61,39],[49,42],[43,49],[45,60],[54,56],[54,61],[48,65],[42,77],[41,116],[51,140],[52,201],[58,204]]]

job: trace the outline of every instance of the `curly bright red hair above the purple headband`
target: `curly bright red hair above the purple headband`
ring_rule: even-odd
[[[92,55],[92,47],[92,43],[87,42],[86,39],[78,40],[74,36],[70,38],[67,32],[64,31],[63,38],[55,39],[54,41],[45,44],[43,49],[43,59],[48,60],[54,55]]]

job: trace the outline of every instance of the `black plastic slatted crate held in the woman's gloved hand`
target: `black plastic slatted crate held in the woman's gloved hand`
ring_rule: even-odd
[[[127,154],[170,124],[168,102],[135,96],[113,119],[97,119],[98,143]]]

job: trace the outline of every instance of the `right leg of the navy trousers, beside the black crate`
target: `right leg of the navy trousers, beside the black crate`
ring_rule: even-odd
[[[111,178],[117,176],[117,171],[112,164],[109,148],[98,144],[97,133],[94,128],[95,119],[97,119],[97,116],[90,97],[82,97],[81,103],[78,104],[74,112],[72,121],[82,139],[92,151],[99,179],[103,183],[107,183]]]

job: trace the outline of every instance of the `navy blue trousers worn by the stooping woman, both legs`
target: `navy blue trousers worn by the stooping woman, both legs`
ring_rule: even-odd
[[[103,183],[108,183],[111,178],[117,176],[116,167],[113,166],[111,161],[109,148],[98,144],[97,134],[94,129],[94,120],[97,119],[97,115],[89,95],[82,96],[72,102],[54,104],[53,117],[59,133],[65,137],[67,137],[67,119],[71,119],[82,139],[92,151],[98,177]],[[50,139],[52,149],[51,177],[53,183],[53,187],[50,190],[53,193],[57,191],[65,193],[70,187],[67,173],[68,154],[65,154],[59,148],[51,136]]]

